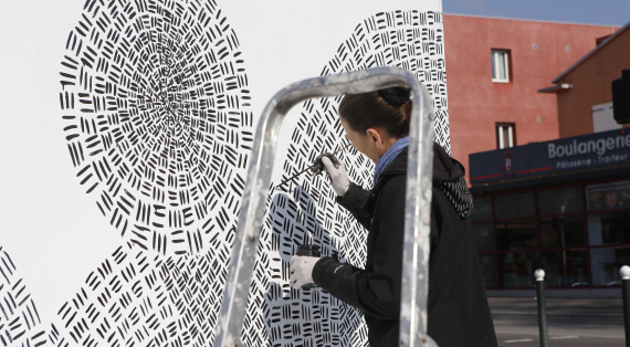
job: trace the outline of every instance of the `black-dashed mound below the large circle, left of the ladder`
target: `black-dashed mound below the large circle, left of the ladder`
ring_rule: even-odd
[[[55,346],[211,346],[221,305],[221,249],[164,256],[128,242],[57,312]]]

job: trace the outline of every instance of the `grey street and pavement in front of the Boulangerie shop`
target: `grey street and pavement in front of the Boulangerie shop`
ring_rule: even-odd
[[[536,298],[489,297],[500,347],[540,346]],[[547,298],[549,346],[626,346],[621,298]]]

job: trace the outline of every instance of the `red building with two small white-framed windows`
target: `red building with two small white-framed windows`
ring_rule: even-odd
[[[453,157],[468,169],[472,153],[558,138],[556,97],[537,91],[618,29],[444,14]]]

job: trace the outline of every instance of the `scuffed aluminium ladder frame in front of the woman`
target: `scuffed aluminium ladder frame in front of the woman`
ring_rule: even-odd
[[[216,347],[243,346],[240,339],[242,324],[276,141],[286,113],[308,98],[366,93],[391,86],[410,87],[413,101],[409,130],[399,346],[437,346],[427,335],[433,166],[432,99],[426,87],[408,71],[375,67],[294,83],[276,93],[264,108],[256,127],[220,320],[216,328]]]

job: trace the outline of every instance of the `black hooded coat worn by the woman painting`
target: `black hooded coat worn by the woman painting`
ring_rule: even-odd
[[[433,157],[428,334],[440,347],[496,346],[473,231],[465,219],[470,209],[456,197],[463,167],[438,145]],[[372,190],[353,183],[337,199],[369,230],[365,270],[332,257],[313,269],[315,283],[364,312],[371,347],[398,346],[406,183],[407,148]],[[465,183],[463,189],[468,193]]]

